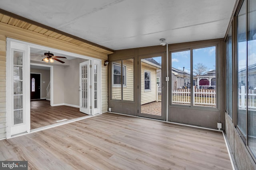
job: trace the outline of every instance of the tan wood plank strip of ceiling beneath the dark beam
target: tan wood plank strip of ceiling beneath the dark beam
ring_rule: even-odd
[[[78,39],[68,37],[68,36],[63,35],[61,33],[57,33],[57,32],[51,31],[49,29],[39,27],[37,25],[28,23],[26,21],[18,20],[16,18],[12,18],[12,17],[4,15],[4,14],[0,14],[0,22],[10,24],[10,25],[13,25],[13,26],[16,26],[16,27],[21,27],[23,29],[28,29],[30,31],[34,31],[36,33],[40,33],[40,34],[43,34],[43,35],[47,35],[49,37],[60,39],[62,41],[66,41],[68,43],[79,45],[79,46],[82,46],[82,47],[85,47],[85,48],[88,48],[88,49],[91,49],[91,50],[94,50],[94,51],[97,51],[99,53],[103,53],[103,54],[106,54],[106,55],[114,53],[114,51],[112,51],[111,49],[108,50],[108,49],[104,49],[104,48],[101,48],[101,47],[97,47],[95,45],[92,45],[93,43],[92,44],[86,43],[86,42],[80,41]]]

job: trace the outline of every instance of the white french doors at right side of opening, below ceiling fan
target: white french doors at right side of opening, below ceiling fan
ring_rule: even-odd
[[[100,113],[100,61],[80,63],[80,111],[88,115]]]

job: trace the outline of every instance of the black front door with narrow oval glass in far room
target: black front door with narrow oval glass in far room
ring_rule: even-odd
[[[30,74],[30,100],[41,98],[40,82],[40,74]]]

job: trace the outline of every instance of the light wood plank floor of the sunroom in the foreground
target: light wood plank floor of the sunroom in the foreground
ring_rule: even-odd
[[[0,141],[29,169],[231,170],[221,132],[104,113]]]

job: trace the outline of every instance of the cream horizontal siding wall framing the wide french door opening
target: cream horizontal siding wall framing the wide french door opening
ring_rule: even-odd
[[[6,137],[6,37],[44,45],[88,57],[94,57],[102,60],[102,112],[107,111],[108,95],[107,95],[107,66],[104,66],[104,61],[108,56],[85,47],[80,47],[66,41],[62,41],[53,37],[48,37],[40,33],[22,29],[6,23],[0,23],[0,139]]]

